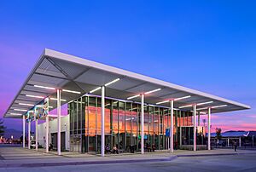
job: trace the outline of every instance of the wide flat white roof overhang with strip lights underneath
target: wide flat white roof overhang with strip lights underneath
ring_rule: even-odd
[[[119,78],[118,82],[106,87],[106,96],[127,100],[128,97],[133,95],[160,89],[160,91],[145,95],[145,102],[155,105],[157,102],[190,95],[187,99],[175,101],[174,107],[178,108],[180,106],[212,101],[211,104],[201,105],[198,106],[198,108],[221,106],[212,108],[212,113],[231,112],[250,108],[250,106],[216,95],[210,95],[195,89],[167,83],[159,79],[128,72],[95,61],[85,60],[70,54],[44,49],[44,53],[40,56],[36,66],[34,66],[32,72],[30,72],[29,76],[26,78],[25,83],[21,86],[20,91],[15,96],[7,112],[5,112],[4,118],[21,118],[26,112],[16,112],[15,109],[29,110],[31,106],[24,106],[25,104],[36,105],[43,100],[43,98],[28,97],[26,95],[56,98],[56,90],[38,88],[35,87],[35,85],[79,92],[79,94],[61,92],[61,99],[66,100],[61,101],[61,105],[63,105],[117,78]],[[100,95],[101,90],[99,89],[93,94]],[[132,100],[140,101],[140,97],[138,96]],[[49,106],[55,108],[56,100],[49,100]],[[161,106],[169,106],[169,102],[163,103]],[[188,111],[192,110],[191,106],[183,109]],[[206,112],[206,110],[202,109],[201,112]]]

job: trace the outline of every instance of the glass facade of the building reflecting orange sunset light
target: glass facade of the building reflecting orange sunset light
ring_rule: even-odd
[[[84,96],[68,103],[70,118],[70,151],[101,152],[101,98]],[[169,147],[166,130],[171,126],[170,108],[162,106],[144,107],[144,138],[141,138],[141,105],[122,100],[105,100],[105,146],[117,145],[124,152],[145,146],[157,150]],[[193,144],[192,112],[174,110],[174,147]],[[192,142],[191,142],[192,141]]]

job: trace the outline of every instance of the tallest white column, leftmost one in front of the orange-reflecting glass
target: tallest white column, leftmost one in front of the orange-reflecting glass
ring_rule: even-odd
[[[102,157],[105,156],[105,86],[102,86]]]

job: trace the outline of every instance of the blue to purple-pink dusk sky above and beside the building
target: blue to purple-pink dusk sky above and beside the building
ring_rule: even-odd
[[[1,1],[0,118],[49,48],[247,104],[212,129],[256,130],[255,1],[170,2]]]

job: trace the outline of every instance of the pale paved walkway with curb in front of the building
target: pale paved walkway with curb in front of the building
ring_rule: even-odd
[[[100,164],[100,163],[142,163],[142,162],[160,162],[171,161],[178,157],[192,156],[221,156],[250,154],[256,151],[217,149],[212,151],[182,151],[170,152],[146,152],[140,153],[123,153],[119,155],[107,155],[102,158],[98,155],[80,154],[75,152],[62,152],[61,156],[56,152],[45,153],[44,150],[28,150],[22,147],[0,147],[0,168],[8,167],[35,167],[35,166],[63,166],[78,164]]]

